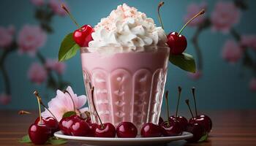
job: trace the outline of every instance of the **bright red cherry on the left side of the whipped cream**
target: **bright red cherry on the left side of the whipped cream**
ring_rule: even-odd
[[[89,42],[93,40],[91,37],[91,33],[93,32],[94,28],[89,25],[84,25],[74,31],[73,39],[80,47],[88,47]]]

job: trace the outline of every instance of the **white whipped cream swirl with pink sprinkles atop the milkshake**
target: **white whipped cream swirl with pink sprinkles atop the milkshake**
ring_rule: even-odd
[[[166,46],[167,37],[152,18],[127,4],[119,5],[94,27],[89,52],[146,52],[149,48]]]

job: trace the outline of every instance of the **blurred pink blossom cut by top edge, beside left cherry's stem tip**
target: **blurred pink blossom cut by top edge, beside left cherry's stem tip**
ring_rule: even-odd
[[[67,3],[61,0],[50,0],[49,1],[50,8],[53,9],[53,12],[56,13],[56,15],[64,16],[67,15],[67,13],[64,11],[64,9],[61,8],[61,4],[64,4],[65,7],[68,8]]]

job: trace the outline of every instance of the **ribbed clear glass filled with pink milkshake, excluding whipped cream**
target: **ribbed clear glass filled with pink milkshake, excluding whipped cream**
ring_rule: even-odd
[[[92,122],[99,123],[90,93],[94,86],[94,104],[103,123],[117,126],[129,121],[139,130],[144,123],[158,124],[170,48],[148,47],[147,52],[113,55],[89,53],[90,49],[96,48],[83,47],[80,55]]]

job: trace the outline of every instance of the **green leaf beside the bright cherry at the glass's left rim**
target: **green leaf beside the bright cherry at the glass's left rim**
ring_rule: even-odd
[[[67,34],[67,36],[61,42],[61,47],[59,48],[59,61],[65,61],[72,58],[80,46],[77,45],[73,39],[73,33]]]

